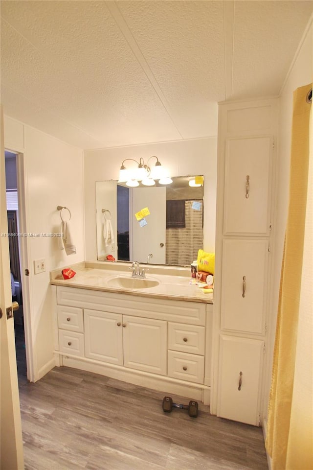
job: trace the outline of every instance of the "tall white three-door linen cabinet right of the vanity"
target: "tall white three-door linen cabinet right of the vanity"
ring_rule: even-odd
[[[260,425],[266,361],[278,100],[219,105],[211,413]]]

